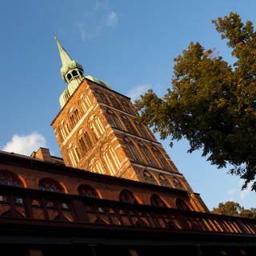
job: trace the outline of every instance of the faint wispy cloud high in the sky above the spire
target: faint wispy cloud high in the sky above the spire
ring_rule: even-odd
[[[95,8],[92,14],[76,23],[77,32],[82,41],[97,37],[106,28],[114,29],[118,25],[118,14],[112,11],[102,11],[102,8]]]

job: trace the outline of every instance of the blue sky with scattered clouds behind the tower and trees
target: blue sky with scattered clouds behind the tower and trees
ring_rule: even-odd
[[[39,1],[1,2],[0,149],[30,154],[39,146],[59,155],[50,122],[65,88],[54,36],[82,63],[85,73],[133,98],[170,87],[173,59],[191,41],[216,48],[229,62],[230,49],[212,19],[230,14],[255,21],[256,2],[246,1]],[[186,141],[162,142],[178,170],[210,209],[234,200],[255,207],[255,193],[241,191],[239,178],[210,166]]]

